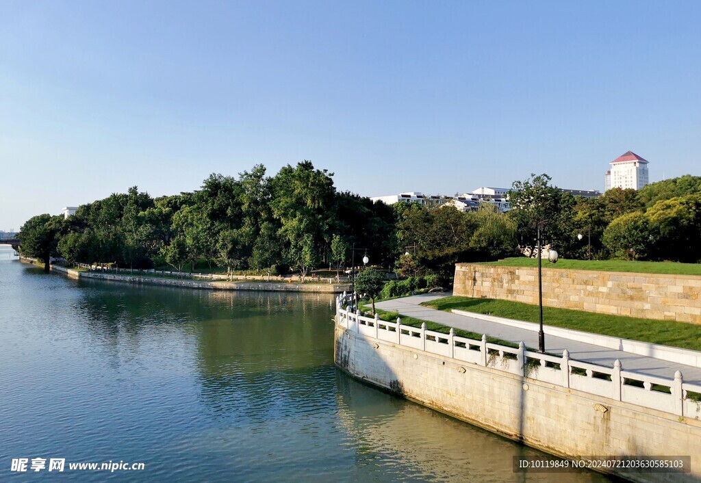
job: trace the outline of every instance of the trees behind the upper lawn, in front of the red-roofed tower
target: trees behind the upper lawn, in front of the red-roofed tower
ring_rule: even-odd
[[[667,179],[639,191],[613,188],[598,198],[575,198],[549,182],[547,175],[531,175],[514,183],[509,215],[521,245],[532,246],[536,222],[546,220],[545,241],[566,258],[701,260],[701,177]]]

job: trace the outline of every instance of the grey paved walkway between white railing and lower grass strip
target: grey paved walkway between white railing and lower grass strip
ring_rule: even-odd
[[[538,347],[538,331],[510,327],[498,322],[466,317],[456,313],[437,311],[435,308],[422,307],[422,302],[447,297],[447,294],[423,294],[404,297],[402,299],[377,302],[376,308],[384,311],[398,312],[417,319],[430,320],[456,329],[469,330],[477,334],[487,334],[505,341],[519,343],[524,341],[526,347]],[[547,335],[545,327],[545,351],[562,354],[564,349],[570,353],[571,359],[591,362],[592,364],[613,367],[613,362],[619,359],[623,370],[649,374],[651,376],[674,379],[674,372],[681,371],[684,381],[694,384],[701,383],[701,368],[669,362],[644,355],[595,346],[594,344]]]

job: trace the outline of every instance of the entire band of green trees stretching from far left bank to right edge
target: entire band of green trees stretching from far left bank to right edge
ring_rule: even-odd
[[[273,177],[262,165],[238,177],[212,174],[198,191],[174,196],[151,198],[134,186],[82,205],[68,219],[29,219],[20,233],[22,252],[133,268],[293,271],[304,278],[314,268],[348,266],[355,244],[362,252],[356,264],[367,252],[371,264],[402,275],[449,280],[456,262],[532,249],[540,222],[545,243],[567,258],[700,259],[700,177],[575,198],[547,175],[531,175],[513,184],[512,210],[504,215],[489,203],[468,213],[372,203],[336,191],[332,176],[304,161]]]

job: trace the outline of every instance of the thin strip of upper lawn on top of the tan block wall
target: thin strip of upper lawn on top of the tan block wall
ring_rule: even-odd
[[[485,265],[538,266],[538,259],[512,257],[500,261],[486,261]],[[569,270],[599,270],[608,272],[666,273],[672,275],[701,275],[701,264],[680,264],[676,261],[626,261],[626,260],[568,260],[559,259],[557,264],[543,260],[544,268]]]

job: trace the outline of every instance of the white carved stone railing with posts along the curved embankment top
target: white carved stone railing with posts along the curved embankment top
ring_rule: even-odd
[[[518,348],[487,342],[486,334],[481,340],[456,336],[452,328],[449,334],[444,334],[426,329],[426,323],[417,328],[403,325],[401,318],[387,322],[379,315],[371,318],[360,311],[354,313],[351,306],[346,305],[350,302],[351,295],[346,292],[336,297],[336,324],[351,332],[441,355],[455,362],[493,367],[535,381],[701,419],[701,402],[690,398],[689,394],[699,397],[701,385],[685,383],[679,371],[674,379],[665,379],[624,371],[620,360],[615,360],[613,367],[607,367],[570,359],[568,351],[558,357],[528,351],[523,342]]]

